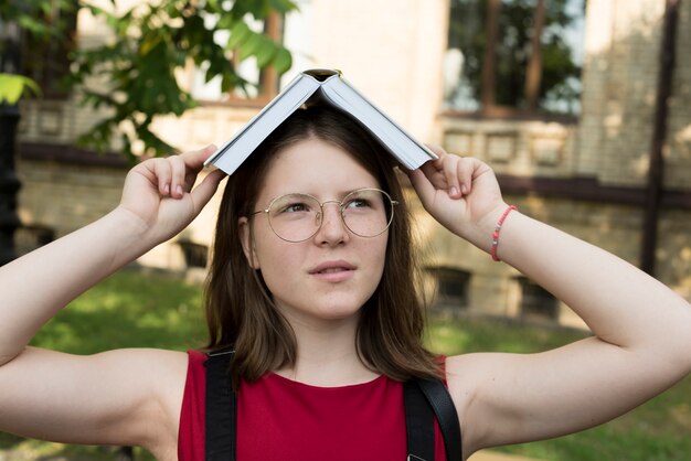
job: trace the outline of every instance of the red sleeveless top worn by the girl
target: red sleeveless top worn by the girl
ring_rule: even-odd
[[[204,461],[206,356],[190,351],[178,436],[179,461]],[[435,421],[436,461],[444,439]],[[364,384],[316,387],[267,373],[242,382],[237,461],[404,461],[403,385],[380,376]]]

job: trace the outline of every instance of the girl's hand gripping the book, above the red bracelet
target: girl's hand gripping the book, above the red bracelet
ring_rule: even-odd
[[[493,225],[507,204],[492,170],[478,159],[447,153],[408,172],[423,206],[444,227],[488,249]]]

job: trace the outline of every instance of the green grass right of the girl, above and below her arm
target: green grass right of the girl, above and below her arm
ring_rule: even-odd
[[[529,353],[584,337],[573,330],[463,319],[433,321],[429,346],[447,355],[477,351]],[[682,461],[691,453],[691,377],[606,425],[557,439],[501,448],[550,461]]]

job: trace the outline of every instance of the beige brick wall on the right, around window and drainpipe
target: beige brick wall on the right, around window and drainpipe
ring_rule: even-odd
[[[638,265],[665,1],[592,0],[587,8],[583,111],[576,125],[445,118],[442,139],[449,151],[478,157],[508,179],[529,180],[508,200],[523,213]],[[691,300],[691,58],[685,52],[690,31],[691,2],[681,2],[663,190],[681,192],[685,200],[660,212],[656,276]],[[563,185],[554,187],[552,182],[551,193],[535,192],[535,184],[555,179]],[[583,179],[598,192],[568,191],[570,185],[583,186],[578,182]],[[425,265],[470,274],[470,309],[521,315],[518,272],[492,264],[428,218],[421,218],[421,228],[429,246]],[[581,323],[565,305],[560,305],[559,320]]]

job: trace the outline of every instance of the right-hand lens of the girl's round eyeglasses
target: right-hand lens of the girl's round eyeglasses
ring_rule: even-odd
[[[376,189],[351,192],[343,199],[343,222],[361,237],[374,237],[389,227],[393,217],[391,197]]]

